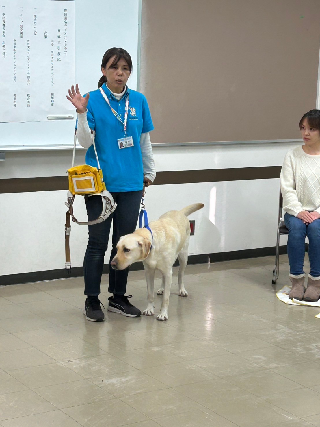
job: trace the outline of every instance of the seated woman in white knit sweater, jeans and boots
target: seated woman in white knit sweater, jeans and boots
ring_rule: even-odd
[[[280,185],[288,234],[290,299],[318,301],[320,294],[320,110],[300,120],[303,146],[287,152]],[[305,237],[309,240],[310,274],[305,290]]]

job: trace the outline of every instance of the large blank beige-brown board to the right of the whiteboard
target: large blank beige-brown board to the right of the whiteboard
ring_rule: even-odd
[[[142,0],[153,143],[299,138],[315,108],[319,0]]]

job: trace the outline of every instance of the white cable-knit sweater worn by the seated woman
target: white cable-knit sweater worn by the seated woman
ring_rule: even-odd
[[[320,154],[310,155],[302,146],[287,152],[280,174],[283,210],[320,213]]]

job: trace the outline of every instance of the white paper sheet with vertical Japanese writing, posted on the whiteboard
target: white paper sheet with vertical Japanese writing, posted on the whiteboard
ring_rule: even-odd
[[[74,3],[0,1],[0,122],[69,116],[71,104],[60,100],[64,82],[74,81]]]

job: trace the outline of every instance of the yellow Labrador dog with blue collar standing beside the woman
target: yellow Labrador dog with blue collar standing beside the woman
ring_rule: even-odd
[[[168,304],[172,282],[172,266],[178,258],[179,295],[188,296],[183,285],[183,272],[188,261],[190,223],[187,216],[203,208],[202,203],[187,206],[181,211],[170,211],[157,221],[150,222],[152,233],[146,228],[139,228],[132,234],[120,238],[117,254],[111,261],[116,270],[124,270],[132,263],[143,261],[148,287],[148,305],[143,314],[154,316],[154,272],[162,273],[162,288],[157,291],[163,295],[158,320],[168,320]]]

